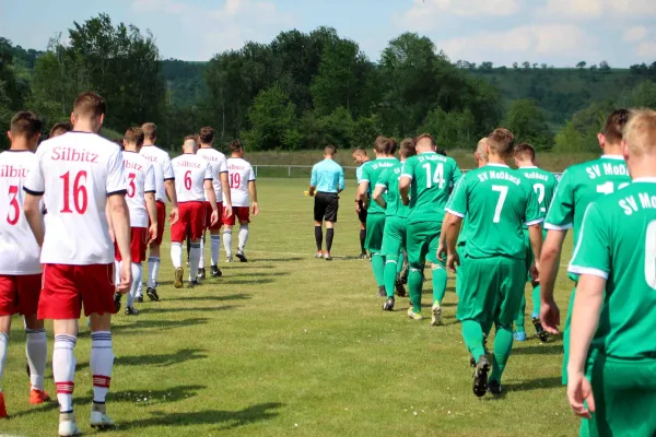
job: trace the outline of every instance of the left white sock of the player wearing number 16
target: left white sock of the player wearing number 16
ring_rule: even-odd
[[[72,413],[73,389],[75,388],[75,342],[74,335],[55,335],[52,351],[52,377],[57,387],[60,413]]]

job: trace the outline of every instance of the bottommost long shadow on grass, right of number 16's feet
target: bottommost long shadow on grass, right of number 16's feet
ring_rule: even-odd
[[[154,412],[151,417],[121,423],[120,429],[147,428],[149,426],[219,425],[219,430],[238,428],[256,422],[269,421],[280,413],[282,403],[261,403],[239,411],[206,410],[188,413]]]

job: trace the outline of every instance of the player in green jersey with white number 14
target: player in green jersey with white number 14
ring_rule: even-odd
[[[449,189],[462,176],[453,157],[435,152],[433,137],[422,134],[417,139],[417,156],[403,163],[399,179],[399,191],[405,205],[410,205],[408,214],[408,264],[410,275],[411,306],[408,316],[421,320],[421,288],[423,268],[427,259],[433,264],[433,308],[431,324],[442,322],[442,299],[446,292],[446,270],[437,259],[437,245],[444,206]]]

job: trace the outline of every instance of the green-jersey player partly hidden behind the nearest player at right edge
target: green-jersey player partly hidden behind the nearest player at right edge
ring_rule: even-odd
[[[610,194],[628,186],[631,181],[629,170],[622,155],[622,130],[629,120],[629,111],[619,109],[608,116],[604,133],[598,134],[604,155],[595,161],[569,167],[561,178],[553,200],[547,213],[544,228],[547,239],[542,248],[540,272],[540,322],[551,334],[558,334],[560,309],[553,298],[553,285],[560,267],[560,256],[567,229],[574,228],[574,245],[578,243],[583,214],[591,202],[605,194]],[[576,290],[577,276],[570,273]],[[574,302],[572,292],[570,303]],[[570,307],[572,305],[570,304]],[[563,335],[563,385],[567,381],[566,362],[570,344],[570,314],[565,320]]]

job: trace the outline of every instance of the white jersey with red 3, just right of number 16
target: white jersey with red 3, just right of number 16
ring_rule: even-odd
[[[149,216],[145,209],[145,193],[156,191],[153,167],[145,157],[134,152],[124,151],[124,168],[126,169],[126,181],[128,184],[126,202],[130,210],[131,227],[148,227]]]

